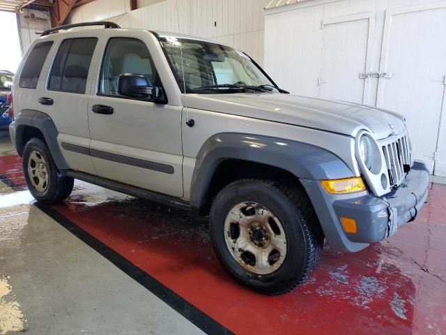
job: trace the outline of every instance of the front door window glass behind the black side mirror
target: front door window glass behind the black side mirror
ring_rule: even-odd
[[[141,40],[111,38],[102,61],[99,93],[121,96],[118,93],[118,77],[123,73],[144,75],[150,87],[160,85],[151,54]]]

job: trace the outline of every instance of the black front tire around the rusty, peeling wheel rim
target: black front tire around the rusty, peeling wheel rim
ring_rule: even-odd
[[[286,234],[286,256],[271,274],[256,274],[239,264],[224,234],[226,215],[240,202],[267,207]],[[278,181],[241,179],[218,193],[210,210],[210,234],[217,258],[239,283],[266,295],[282,295],[303,283],[321,260],[323,233],[311,202],[300,187]]]

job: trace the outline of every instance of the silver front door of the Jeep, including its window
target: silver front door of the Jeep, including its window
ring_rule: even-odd
[[[98,175],[151,191],[183,196],[180,106],[121,96],[118,77],[144,75],[162,86],[144,42],[110,38],[100,68],[98,94],[89,99],[90,153]],[[105,107],[98,110],[95,106]]]

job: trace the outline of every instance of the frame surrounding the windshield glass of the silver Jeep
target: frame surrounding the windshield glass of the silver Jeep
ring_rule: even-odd
[[[167,63],[169,64],[171,72],[174,74],[176,84],[178,85],[178,88],[180,89],[180,92],[182,94],[234,94],[234,93],[245,93],[247,91],[256,93],[256,94],[272,93],[269,91],[259,92],[256,90],[249,89],[249,87],[226,88],[226,89],[190,89],[190,88],[186,87],[186,91],[185,91],[185,86],[183,85],[183,78],[179,77],[179,73],[176,71],[174,64],[172,64],[169,54],[167,54],[167,50],[164,47],[164,44],[162,42],[167,40],[167,38],[171,37],[171,38],[176,38],[177,40],[179,40],[180,43],[182,42],[182,40],[190,40],[190,41],[196,41],[198,43],[215,43],[216,45],[222,45],[224,47],[231,47],[231,46],[217,43],[213,40],[201,40],[199,38],[189,38],[189,37],[185,37],[185,36],[160,36],[155,31],[151,31],[151,33],[157,38],[158,42],[160,43],[160,47],[162,49],[162,52],[164,53],[164,57],[166,57],[166,59],[167,59]],[[265,72],[265,70],[263,70],[263,68],[261,68],[261,66],[259,66],[259,64],[257,64],[256,61],[254,61],[254,59],[252,59],[252,57],[249,56],[249,54],[246,54],[245,52],[238,50],[235,47],[231,47],[231,48],[242,52],[252,62],[252,64],[266,77],[266,79],[268,79],[271,82],[272,86],[275,87],[277,92],[281,93],[279,87],[274,82],[274,80],[271,79],[271,77]]]

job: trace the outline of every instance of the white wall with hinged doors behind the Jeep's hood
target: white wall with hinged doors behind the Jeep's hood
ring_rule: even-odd
[[[280,86],[401,112],[415,158],[446,175],[446,1],[308,0],[266,10],[265,25]]]

